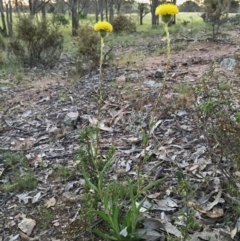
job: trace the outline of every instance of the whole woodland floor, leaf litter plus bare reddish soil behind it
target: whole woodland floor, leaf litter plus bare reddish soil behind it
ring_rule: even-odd
[[[168,177],[163,185],[146,193],[146,197],[156,205],[149,215],[159,220],[164,215],[168,217],[167,222],[172,226],[167,232],[173,237],[178,237],[176,229],[181,226],[173,216],[184,208],[176,191],[176,171],[180,168],[196,190],[190,201],[202,198],[204,204],[212,204],[212,209],[198,213],[196,220],[201,229],[190,233],[190,240],[208,240],[206,237],[239,240],[238,234],[233,239],[230,235],[238,216],[221,189],[226,176],[210,157],[204,130],[199,129],[194,112],[198,97],[188,90],[179,91],[184,86],[198,86],[212,69],[219,82],[231,80],[237,91],[239,65],[227,69],[221,62],[224,58],[240,59],[239,37],[240,31],[235,31],[216,42],[182,39],[181,49],[174,48],[180,46],[179,42],[172,45],[166,88],[156,113],[158,124],[147,146],[153,155],[143,171],[161,162],[149,176]],[[103,70],[103,91],[107,97],[101,108],[101,150],[104,153],[111,145],[116,148],[111,178],[136,176],[143,151],[141,128],[148,130],[149,117],[163,83],[154,73],[165,69],[165,55],[151,53],[155,47],[157,39],[143,46],[140,52],[141,45],[118,47],[114,50],[118,59]],[[84,130],[96,118],[98,73],[70,78],[62,70],[54,71],[44,74],[29,71],[18,84],[0,80],[0,182],[11,180],[15,168],[24,172],[17,160],[10,165],[6,163],[3,156],[7,151],[23,152],[28,168],[37,178],[37,187],[31,191],[0,189],[0,241],[100,240],[85,232],[85,227],[77,222],[84,179],[80,171],[68,174],[76,168],[74,154],[80,145],[76,130]],[[64,124],[66,115],[72,112],[78,112],[77,121],[73,125]],[[61,173],[63,167],[68,170],[65,174]]]

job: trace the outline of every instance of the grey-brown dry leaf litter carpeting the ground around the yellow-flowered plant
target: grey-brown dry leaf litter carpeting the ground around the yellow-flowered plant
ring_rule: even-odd
[[[202,46],[203,43],[199,45]],[[177,81],[186,81],[186,77],[199,80],[196,76],[204,74],[202,67],[205,67],[205,71],[207,69],[207,65],[201,65],[202,72],[199,72],[198,67],[193,66],[190,60],[188,65],[182,65],[181,54],[174,57],[179,66],[174,71],[174,78],[179,78]],[[152,64],[154,65],[154,61]],[[188,76],[178,72],[180,70]],[[134,69],[128,71],[135,73]],[[114,172],[135,176],[136,160],[143,156],[139,130],[146,128],[145,123],[149,116],[141,121],[138,117],[146,111],[151,113],[156,88],[144,85],[144,81],[149,78],[148,73],[144,71],[138,74],[138,83],[127,81],[126,69],[119,69],[114,76],[111,70],[106,69],[104,72],[108,81],[104,82],[103,88],[108,93],[108,100],[101,108],[101,149],[106,150],[111,145],[116,148],[116,158],[112,166],[113,176]],[[124,79],[120,88],[114,87],[109,81],[112,78],[111,81],[114,82],[117,76],[121,76],[121,80]],[[62,166],[69,170],[75,169],[73,157],[79,148],[75,131],[96,125],[97,105],[92,85],[97,84],[98,78],[93,76],[91,84],[88,79],[82,78],[74,85],[66,81],[56,81],[42,87],[41,84],[37,87],[11,87],[0,92],[1,100],[4,99],[0,112],[0,150],[23,152],[28,168],[38,180],[33,191],[0,191],[0,229],[4,230],[0,233],[2,240],[13,241],[19,240],[20,237],[22,240],[71,240],[79,234],[81,227],[70,237],[66,234],[66,228],[77,220],[84,180],[81,173],[57,177],[54,173],[60,173],[59,168]],[[136,93],[129,93],[123,88],[128,84]],[[235,220],[232,225],[224,223],[224,217],[229,210],[228,202],[233,201],[234,197],[225,194],[221,188],[222,170],[208,155],[208,143],[204,135],[198,132],[193,106],[172,109],[169,96],[177,93],[169,93],[171,91],[173,89],[167,87],[163,96],[166,108],[160,108],[150,131],[151,137],[146,150],[151,157],[144,165],[144,171],[153,179],[167,176],[167,180],[163,186],[155,187],[145,194],[149,200],[144,203],[145,208],[151,205],[150,202],[153,203],[153,208],[138,232],[147,231],[145,240],[164,240],[167,234],[181,238],[179,230],[181,225],[185,225],[184,215],[193,207],[196,211],[195,220],[200,224],[201,231],[192,233],[191,241],[209,238],[234,240],[239,232],[239,221]],[[137,102],[138,99],[141,103]],[[134,116],[133,113],[138,115]],[[129,126],[136,128],[127,129]],[[9,166],[2,157],[3,155],[0,158],[1,183],[4,183],[18,163]],[[159,162],[161,165],[153,168]],[[188,176],[194,189],[194,195],[188,203],[177,195],[176,172],[179,169]],[[40,208],[55,211],[53,221],[45,228],[38,220]],[[121,232],[125,234],[126,230]]]

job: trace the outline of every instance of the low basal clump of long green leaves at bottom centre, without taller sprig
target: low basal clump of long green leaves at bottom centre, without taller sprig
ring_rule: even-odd
[[[109,192],[109,185],[111,187],[112,183],[107,183],[106,180],[104,181],[104,174],[109,169],[111,162],[112,160],[110,158],[107,160],[103,169],[99,172],[96,185],[91,182],[89,175],[85,171],[83,172],[87,185],[95,192],[95,195],[99,197],[102,203],[100,210],[90,210],[90,213],[101,217],[110,229],[110,232],[108,231],[107,233],[101,231],[100,229],[94,229],[94,232],[98,236],[109,240],[140,240],[141,236],[144,236],[144,233],[139,235],[137,233],[137,228],[140,224],[140,209],[143,207],[145,199],[140,201],[138,204],[137,201],[143,192],[146,192],[153,186],[161,183],[164,179],[156,180],[144,188],[135,188],[135,185],[128,180],[127,190],[130,195],[130,207],[124,208],[124,201],[126,199],[123,199],[123,197],[125,195],[122,195],[122,192],[116,192],[115,195],[113,195],[113,193]],[[143,182],[141,180],[138,183],[142,184]],[[120,183],[118,184],[115,182],[114,185],[116,185],[117,190],[119,190],[118,186],[121,187]],[[150,209],[151,207],[146,211]]]

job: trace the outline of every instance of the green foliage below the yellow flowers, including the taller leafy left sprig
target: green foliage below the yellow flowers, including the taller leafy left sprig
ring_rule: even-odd
[[[90,223],[91,220],[95,219],[94,216],[104,220],[104,227],[107,226],[110,231],[105,232],[101,228],[94,229],[94,232],[100,237],[118,241],[139,240],[141,235],[137,234],[137,228],[140,224],[140,209],[145,201],[142,199],[139,202],[139,198],[142,193],[163,182],[164,179],[150,182],[145,187],[142,186],[145,176],[141,177],[140,175],[138,175],[136,184],[129,180],[127,180],[127,185],[122,181],[109,180],[107,173],[114,160],[114,148],[110,148],[105,155],[106,158],[103,159],[93,143],[94,140],[96,141],[94,139],[96,135],[92,129],[80,132],[79,136],[80,142],[85,145],[78,150],[75,158],[79,160],[86,181],[85,199],[91,200],[91,204],[88,203],[87,210],[85,209],[82,215]],[[94,195],[90,194],[90,190]],[[130,207],[125,207],[129,195]],[[99,202],[101,206],[99,206]],[[86,211],[88,211],[87,217]]]

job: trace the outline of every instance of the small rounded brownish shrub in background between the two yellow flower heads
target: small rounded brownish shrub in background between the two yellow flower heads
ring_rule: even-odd
[[[131,18],[128,18],[124,15],[118,15],[113,19],[112,22],[113,31],[116,33],[127,32],[134,33],[136,32],[136,24]]]

